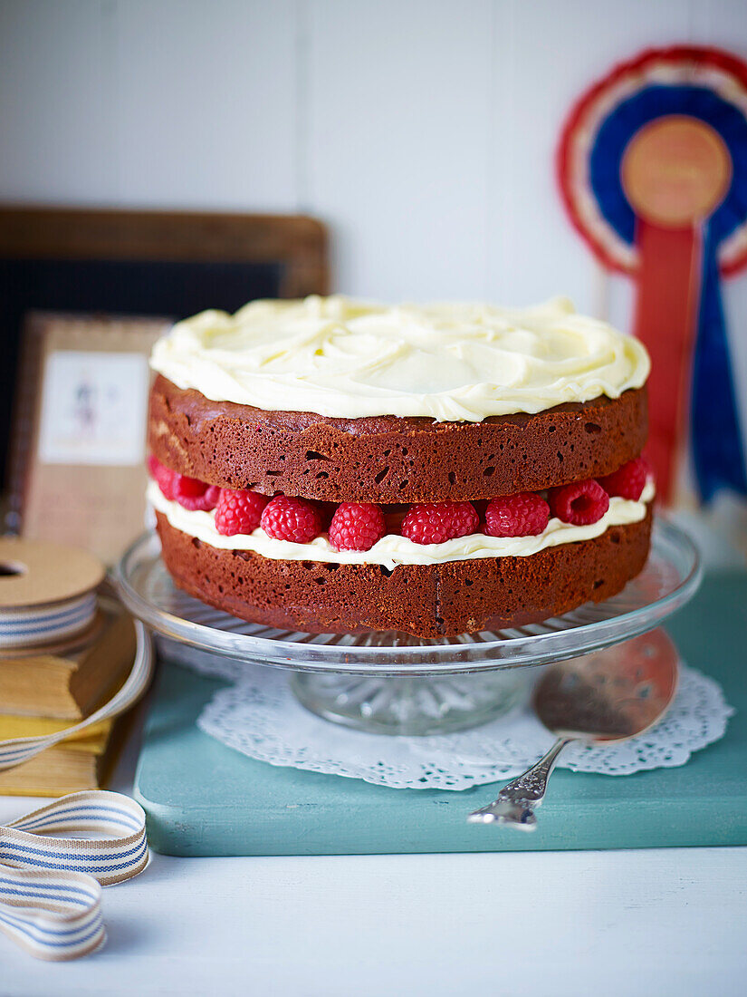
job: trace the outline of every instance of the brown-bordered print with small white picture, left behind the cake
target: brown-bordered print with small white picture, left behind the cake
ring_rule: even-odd
[[[147,358],[167,318],[29,315],[8,525],[112,563],[143,528]]]

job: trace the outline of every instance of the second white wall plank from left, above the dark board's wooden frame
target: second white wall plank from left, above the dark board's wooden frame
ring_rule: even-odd
[[[294,0],[119,0],[114,19],[122,198],[293,210]]]

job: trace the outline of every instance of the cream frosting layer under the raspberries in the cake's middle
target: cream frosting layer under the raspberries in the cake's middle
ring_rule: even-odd
[[[645,484],[637,501],[611,498],[610,507],[597,522],[574,526],[552,518],[537,536],[485,536],[472,533],[445,543],[413,543],[406,536],[388,533],[373,544],[371,550],[336,550],[324,534],[309,543],[276,540],[261,527],[252,533],[223,536],[215,528],[215,512],[191,511],[178,502],[165,498],[154,482],[149,482],[147,498],[175,528],[196,536],[203,543],[221,550],[252,550],[272,560],[311,560],[338,564],[382,564],[392,570],[397,564],[439,564],[451,560],[473,560],[480,557],[528,557],[561,543],[575,543],[600,536],[610,526],[640,522],[655,488],[652,480]]]

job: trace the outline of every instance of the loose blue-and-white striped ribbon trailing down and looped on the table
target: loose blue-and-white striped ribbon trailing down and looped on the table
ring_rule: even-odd
[[[147,631],[135,622],[137,652],[120,691],[75,727],[46,737],[0,742],[0,770],[71,734],[123,713],[145,691],[153,668]],[[100,837],[60,837],[103,832]],[[119,793],[92,790],[56,800],[0,827],[0,930],[40,959],[75,959],[104,944],[102,886],[147,864],[145,815]]]

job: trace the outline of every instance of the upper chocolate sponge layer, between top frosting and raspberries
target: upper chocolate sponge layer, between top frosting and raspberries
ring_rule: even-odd
[[[159,376],[148,431],[162,464],[222,488],[338,502],[471,500],[617,471],[643,448],[647,409],[641,388],[481,423],[346,420],[211,402]]]

